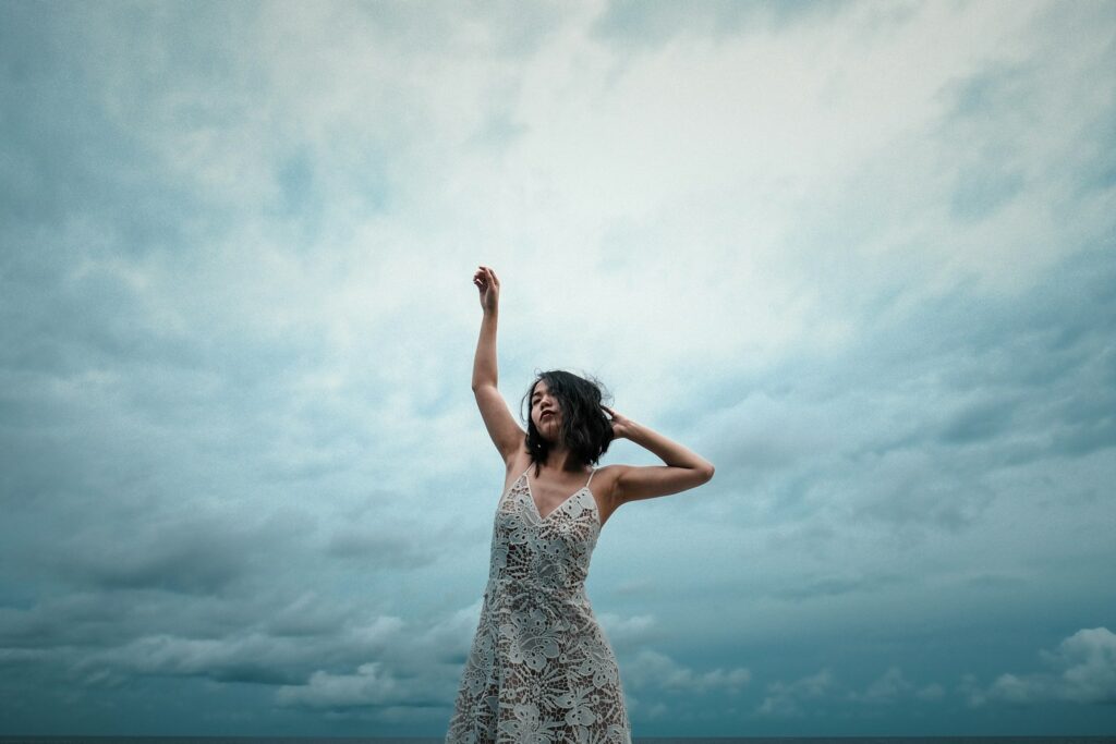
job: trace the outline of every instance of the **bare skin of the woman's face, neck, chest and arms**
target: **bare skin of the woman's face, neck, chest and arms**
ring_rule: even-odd
[[[503,457],[507,491],[514,479],[530,466],[531,458],[527,451],[527,434],[512,417],[497,388],[496,337],[500,280],[490,267],[481,265],[473,274],[473,284],[480,293],[483,318],[473,361],[472,388],[489,436]],[[530,406],[531,422],[551,446],[547,462],[539,467],[538,475],[533,467],[529,473],[529,485],[539,513],[548,514],[585,485],[591,467],[580,463],[561,442],[561,406],[545,380],[538,380],[532,387]],[[686,491],[713,477],[713,464],[704,457],[608,406],[600,407],[612,422],[614,439],[629,439],[657,455],[664,463],[599,467],[593,476],[589,492],[597,502],[602,525],[624,503]]]

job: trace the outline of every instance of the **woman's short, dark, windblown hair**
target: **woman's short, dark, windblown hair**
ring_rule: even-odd
[[[531,456],[531,462],[535,463],[536,474],[539,472],[539,465],[547,462],[547,455],[550,454],[550,444],[535,428],[535,421],[531,418],[530,397],[539,380],[546,381],[550,394],[558,399],[558,405],[561,406],[561,431],[559,433],[561,441],[583,466],[596,464],[600,460],[600,455],[608,451],[608,444],[613,441],[613,423],[600,407],[602,400],[612,396],[603,393],[604,385],[594,377],[586,379],[586,377],[579,377],[573,373],[552,369],[536,373],[535,380],[527,388],[527,395],[519,403],[521,418],[523,403],[528,404],[527,452]]]

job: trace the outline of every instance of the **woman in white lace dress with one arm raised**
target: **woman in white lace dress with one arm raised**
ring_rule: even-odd
[[[497,389],[500,281],[482,265],[473,283],[484,311],[473,394],[507,473],[481,619],[445,741],[629,744],[616,657],[585,596],[589,559],[620,504],[699,486],[713,465],[600,405],[597,385],[565,371],[535,380],[523,432]],[[618,437],[666,464],[593,467]]]

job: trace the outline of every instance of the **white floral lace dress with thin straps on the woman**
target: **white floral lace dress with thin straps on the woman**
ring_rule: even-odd
[[[593,474],[542,516],[529,471],[497,508],[484,603],[446,744],[631,744],[616,657],[585,596],[600,533]]]

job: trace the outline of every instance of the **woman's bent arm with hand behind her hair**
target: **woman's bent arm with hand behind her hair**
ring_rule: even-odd
[[[657,455],[666,465],[609,465],[615,470],[613,499],[616,505],[665,496],[708,483],[713,477],[713,463],[694,454],[677,442],[667,439],[642,424],[636,424],[608,406],[602,406],[613,419],[616,438],[628,438]]]

